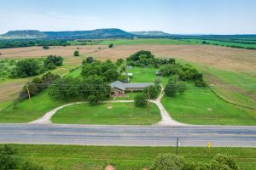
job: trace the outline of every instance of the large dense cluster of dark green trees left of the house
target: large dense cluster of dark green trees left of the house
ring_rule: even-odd
[[[83,61],[81,77],[62,77],[49,87],[49,95],[56,99],[81,97],[96,103],[110,97],[109,82],[119,78],[118,66],[88,57]]]

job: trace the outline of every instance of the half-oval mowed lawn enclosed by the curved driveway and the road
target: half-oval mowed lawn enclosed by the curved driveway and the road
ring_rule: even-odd
[[[136,107],[131,103],[79,104],[57,111],[51,122],[64,124],[151,125],[160,122],[160,110],[154,104]]]

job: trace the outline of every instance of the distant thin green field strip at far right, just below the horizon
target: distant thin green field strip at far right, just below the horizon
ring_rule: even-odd
[[[231,46],[240,46],[242,48],[256,48],[256,44],[247,44],[247,43],[239,43],[239,42],[224,42],[224,41],[218,41],[218,40],[203,40],[203,39],[188,39],[185,40],[187,42],[196,42],[196,43],[202,43],[207,42],[211,45],[219,45],[219,46],[225,46],[225,47],[231,47]]]

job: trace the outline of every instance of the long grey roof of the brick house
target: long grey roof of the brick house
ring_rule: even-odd
[[[137,83],[137,82],[120,82],[120,81],[115,81],[110,83],[111,88],[119,88],[121,90],[126,90],[126,88],[147,88],[148,86],[153,85],[152,82],[142,82],[142,83]]]

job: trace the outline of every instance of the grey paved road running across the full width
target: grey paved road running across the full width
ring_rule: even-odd
[[[0,143],[256,147],[256,127],[0,124]]]

